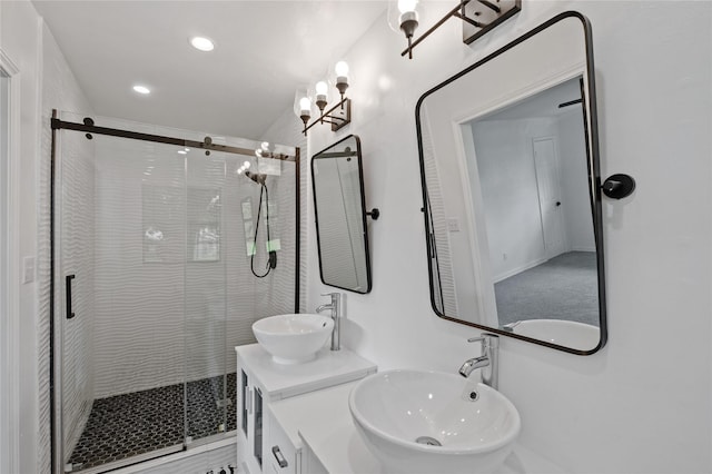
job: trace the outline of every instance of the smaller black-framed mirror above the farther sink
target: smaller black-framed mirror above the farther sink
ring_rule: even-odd
[[[325,285],[372,287],[360,140],[349,135],[312,158],[319,273]]]

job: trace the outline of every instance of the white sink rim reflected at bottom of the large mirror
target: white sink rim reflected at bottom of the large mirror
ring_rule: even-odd
[[[564,319],[525,319],[515,323],[512,332],[582,350],[593,349],[601,340],[596,326]]]

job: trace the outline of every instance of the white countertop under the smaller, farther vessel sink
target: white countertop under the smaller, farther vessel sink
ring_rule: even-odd
[[[237,346],[235,352],[257,374],[273,401],[317,391],[325,386],[326,379],[328,385],[337,385],[363,378],[377,369],[375,364],[346,348],[329,350],[325,347],[314,361],[303,364],[278,364],[259,344]]]

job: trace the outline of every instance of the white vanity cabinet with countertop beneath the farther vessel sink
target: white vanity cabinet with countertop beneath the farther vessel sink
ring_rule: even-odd
[[[275,363],[258,344],[238,346],[237,466],[248,474],[301,473],[298,438],[280,426],[270,412],[274,402],[357,381],[376,366],[348,349],[322,349],[303,364]]]

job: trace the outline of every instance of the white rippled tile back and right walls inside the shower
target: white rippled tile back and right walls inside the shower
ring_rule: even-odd
[[[294,312],[294,165],[285,164],[280,177],[267,178],[271,237],[280,239],[281,250],[274,273],[258,279],[246,255],[241,203],[249,199],[255,219],[259,186],[235,172],[249,157],[214,152],[206,158],[192,150],[186,175],[172,146],[102,138],[97,147],[96,396],[235,371],[233,347],[254,342],[253,322]],[[156,198],[144,199],[151,189]],[[220,192],[217,261],[186,261],[186,189]],[[149,214],[168,217],[149,223]],[[159,261],[145,255],[142,235],[152,224],[162,226],[166,238]],[[264,256],[264,213],[260,226]],[[261,257],[255,269],[264,273]]]

